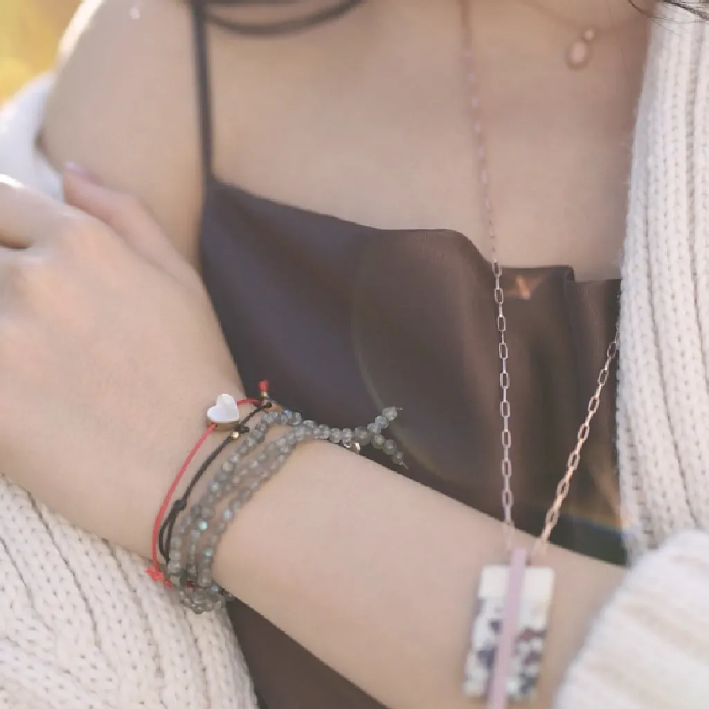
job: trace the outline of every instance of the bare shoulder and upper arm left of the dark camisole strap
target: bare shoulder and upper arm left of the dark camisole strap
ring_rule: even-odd
[[[138,16],[139,13],[139,16]],[[86,0],[67,31],[43,147],[143,199],[184,252],[201,204],[189,6]]]

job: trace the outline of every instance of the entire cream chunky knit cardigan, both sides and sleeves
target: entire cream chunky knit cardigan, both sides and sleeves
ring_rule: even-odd
[[[557,709],[709,708],[709,23],[663,13],[637,118],[620,319],[635,565]],[[60,197],[35,149],[50,84],[0,113],[0,171]],[[183,611],[144,566],[0,478],[0,707],[253,709],[225,615]]]

